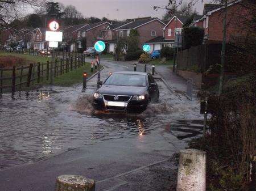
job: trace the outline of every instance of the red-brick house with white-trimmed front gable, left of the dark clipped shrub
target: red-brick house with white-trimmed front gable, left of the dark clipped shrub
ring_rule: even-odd
[[[187,21],[187,16],[175,15],[162,29],[162,33],[146,43],[151,46],[151,52],[160,50],[165,46],[174,47],[175,33],[181,34],[183,24]]]

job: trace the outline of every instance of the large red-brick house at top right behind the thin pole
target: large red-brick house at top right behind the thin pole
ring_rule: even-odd
[[[250,6],[250,1],[238,1],[237,3],[230,3],[227,7],[226,41],[229,41],[234,36],[243,36],[245,33],[243,24],[252,15],[244,3],[249,3],[247,6]],[[205,42],[222,41],[223,38],[222,18],[224,18],[224,6],[216,5],[216,7],[216,9],[209,11],[205,8],[205,14],[200,19],[203,23]]]

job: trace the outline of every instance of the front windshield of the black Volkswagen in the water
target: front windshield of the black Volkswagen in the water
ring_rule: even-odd
[[[146,86],[146,77],[138,74],[112,74],[104,84],[115,86]]]

